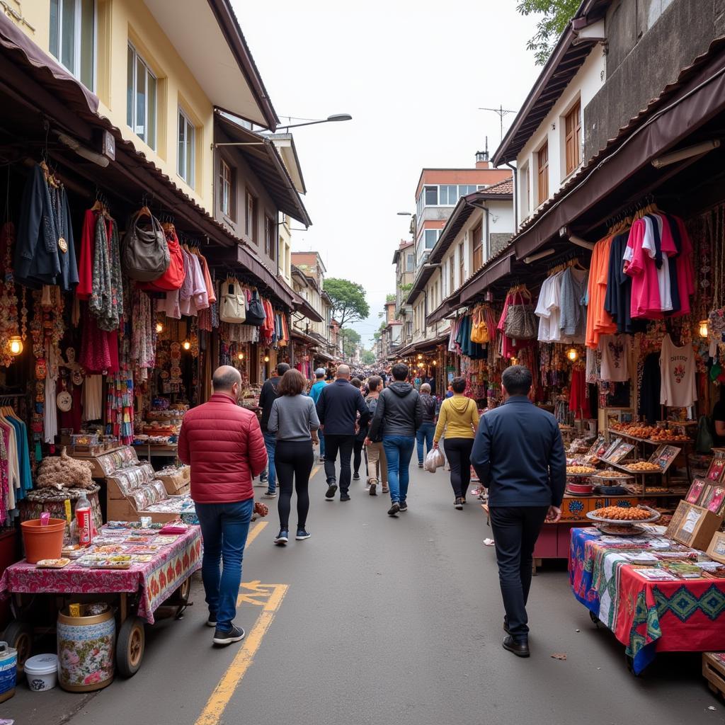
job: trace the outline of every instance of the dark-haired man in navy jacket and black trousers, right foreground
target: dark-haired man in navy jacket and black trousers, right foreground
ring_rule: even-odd
[[[566,456],[556,418],[529,400],[531,371],[504,370],[505,403],[486,413],[473,443],[471,463],[489,489],[491,528],[496,544],[506,616],[505,650],[529,657],[526,600],[531,587],[534,545],[544,521],[561,518]]]

